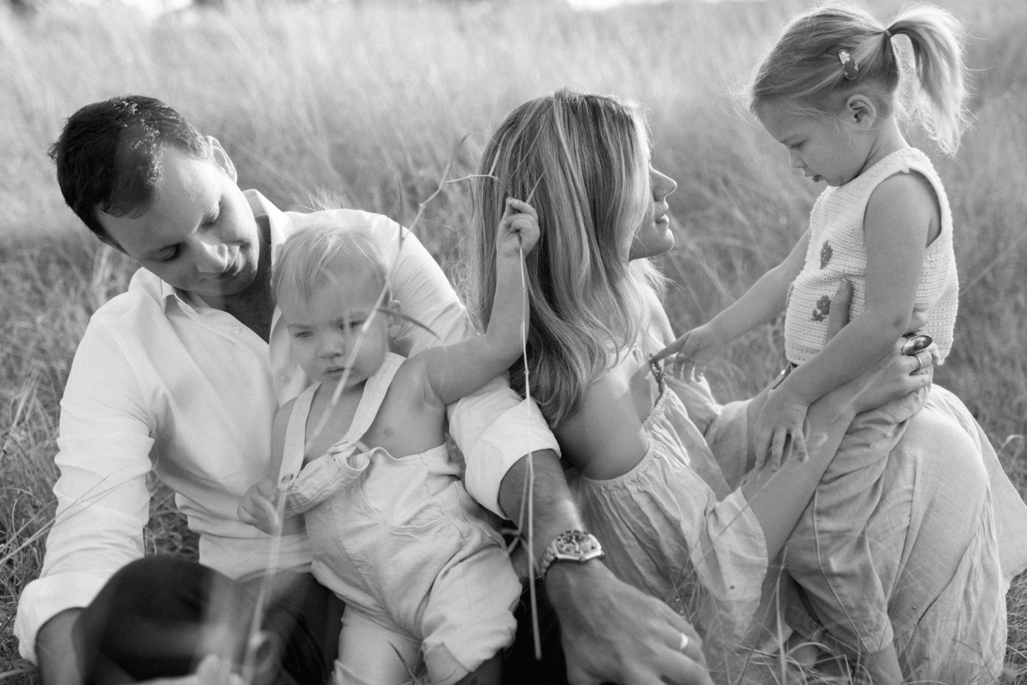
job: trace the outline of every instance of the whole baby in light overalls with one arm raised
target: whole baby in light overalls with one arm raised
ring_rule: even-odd
[[[410,358],[388,348],[400,303],[380,297],[388,267],[374,236],[308,228],[275,263],[293,354],[313,384],[275,417],[273,478],[251,488],[239,518],[272,532],[279,490],[286,517],[305,512],[312,572],[346,603],[339,685],[406,683],[419,653],[433,684],[498,683],[498,652],[514,641],[521,585],[444,434],[446,406],[521,354],[520,254],[538,226],[527,203],[505,207],[487,333]]]

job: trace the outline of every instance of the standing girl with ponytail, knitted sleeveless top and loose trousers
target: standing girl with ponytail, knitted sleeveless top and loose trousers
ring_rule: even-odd
[[[787,309],[791,373],[771,392],[756,425],[758,460],[781,460],[786,437],[801,453],[807,408],[884,354],[927,313],[941,364],[952,345],[958,283],[952,215],[927,159],[903,138],[896,38],[912,43],[919,93],[913,113],[942,150],[953,152],[964,122],[959,26],[937,7],[909,9],[887,27],[850,6],[808,11],[763,60],[750,107],[788,148],[792,166],[824,190],[809,229],[788,258],[709,324],[658,355],[705,366],[724,345]],[[852,321],[825,344],[831,298],[851,283]],[[919,352],[926,360],[927,350]],[[926,390],[912,409],[922,405]],[[909,409],[903,411],[909,415]],[[899,416],[861,417],[828,469],[786,564],[806,589],[831,638],[860,655],[874,682],[902,680],[886,598],[873,571],[865,525],[880,496],[885,458],[905,430]],[[808,545],[807,545],[808,546]],[[820,638],[821,636],[807,636]]]

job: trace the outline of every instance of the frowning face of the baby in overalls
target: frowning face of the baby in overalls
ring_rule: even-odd
[[[317,287],[309,299],[288,289],[278,306],[293,356],[304,373],[330,387],[345,376],[345,389],[349,389],[364,383],[385,359],[388,316],[375,310],[381,293],[375,278],[354,273],[333,275],[331,280]]]

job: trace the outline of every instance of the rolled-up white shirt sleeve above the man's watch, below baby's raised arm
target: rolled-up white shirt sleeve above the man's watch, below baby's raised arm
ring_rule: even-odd
[[[499,486],[510,466],[531,452],[560,454],[535,403],[521,399],[502,378],[457,403],[450,412],[450,433],[463,451],[467,492],[503,519],[510,517],[499,505]]]

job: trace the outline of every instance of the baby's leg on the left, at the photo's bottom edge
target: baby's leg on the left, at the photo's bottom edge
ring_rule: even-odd
[[[402,685],[422,668],[421,641],[382,625],[352,605],[342,615],[334,685]]]

